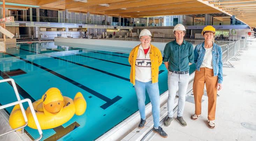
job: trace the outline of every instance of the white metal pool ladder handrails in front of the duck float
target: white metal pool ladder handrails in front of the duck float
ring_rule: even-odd
[[[6,135],[6,134],[11,133],[11,132],[14,132],[14,131],[19,130],[19,129],[21,129],[21,128],[22,128],[22,133],[24,133],[24,127],[28,125],[28,118],[27,118],[27,115],[26,115],[26,113],[25,113],[25,110],[24,110],[24,108],[23,108],[22,103],[23,103],[23,102],[28,102],[28,105],[29,105],[29,108],[30,108],[30,110],[31,110],[32,116],[33,116],[33,118],[34,118],[34,120],[35,120],[35,123],[36,123],[36,127],[37,127],[37,130],[38,130],[38,133],[40,134],[39,138],[35,139],[35,141],[41,140],[41,139],[43,138],[43,132],[42,132],[42,129],[41,129],[40,125],[39,125],[39,122],[38,122],[38,119],[37,119],[37,117],[36,117],[36,113],[35,113],[35,110],[34,110],[34,108],[33,108],[33,105],[32,105],[31,100],[28,99],[28,98],[21,100],[20,95],[19,95],[18,90],[17,90],[17,87],[16,87],[16,85],[15,85],[15,82],[14,82],[14,80],[13,80],[12,78],[0,80],[0,83],[2,83],[2,82],[8,82],[8,81],[12,82],[13,89],[14,89],[14,92],[15,92],[15,94],[16,94],[16,97],[17,97],[17,100],[18,100],[18,101],[15,101],[15,102],[12,102],[12,103],[9,103],[9,104],[0,106],[0,110],[1,110],[1,109],[4,109],[4,108],[7,108],[7,107],[10,107],[10,106],[14,106],[14,105],[19,104],[19,105],[20,105],[20,108],[21,108],[21,111],[22,111],[22,115],[23,115],[23,117],[24,117],[24,119],[25,119],[25,123],[26,123],[26,124],[23,125],[23,126],[21,126],[21,127],[18,127],[18,128],[13,129],[13,130],[10,130],[10,131],[8,131],[8,132],[6,132],[6,133],[0,134],[0,136]]]

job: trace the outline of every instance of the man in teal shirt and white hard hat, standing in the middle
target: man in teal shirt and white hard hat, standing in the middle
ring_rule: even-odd
[[[168,70],[169,91],[167,100],[168,117],[164,124],[169,126],[173,121],[174,98],[178,89],[179,100],[176,119],[182,126],[186,126],[182,116],[189,84],[189,65],[194,60],[193,45],[184,40],[186,30],[182,24],[177,24],[173,31],[176,39],[167,43],[163,51],[164,65]]]

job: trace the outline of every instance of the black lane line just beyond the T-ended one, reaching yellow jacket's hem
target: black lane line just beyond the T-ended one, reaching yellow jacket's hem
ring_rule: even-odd
[[[22,49],[22,48],[20,48],[20,49],[36,53],[35,51],[26,50],[26,49]],[[76,63],[76,62],[73,62],[73,61],[70,61],[70,60],[66,60],[66,59],[62,59],[62,58],[59,58],[59,57],[53,57],[53,56],[42,54],[42,53],[38,53],[38,54],[41,54],[41,55],[44,55],[44,56],[48,56],[48,57],[51,57],[51,58],[54,58],[54,59],[59,59],[59,60],[62,60],[62,61],[66,61],[68,63],[72,63],[72,64],[79,65],[79,66],[82,66],[82,67],[86,67],[86,68],[89,68],[89,69],[93,69],[94,71],[98,71],[98,72],[101,72],[101,73],[104,73],[104,74],[107,74],[107,75],[110,75],[110,76],[114,76],[114,77],[117,77],[117,78],[120,78],[122,80],[130,82],[130,79],[128,79],[128,78],[125,78],[125,77],[122,77],[122,76],[119,76],[119,75],[116,75],[116,74],[112,74],[112,73],[109,73],[109,72],[106,72],[106,71],[102,71],[102,70],[97,69],[97,68],[93,68],[93,67],[90,67],[90,66],[87,66],[87,65],[83,65],[83,64]]]

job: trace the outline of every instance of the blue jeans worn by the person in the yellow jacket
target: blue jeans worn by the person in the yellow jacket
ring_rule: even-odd
[[[146,119],[145,114],[145,100],[146,100],[146,90],[148,92],[149,99],[152,104],[152,115],[154,121],[154,127],[158,128],[159,126],[159,118],[160,118],[160,96],[159,96],[159,88],[158,83],[149,82],[140,82],[135,80],[134,85],[137,98],[138,98],[138,107],[140,111],[140,117],[142,119]]]

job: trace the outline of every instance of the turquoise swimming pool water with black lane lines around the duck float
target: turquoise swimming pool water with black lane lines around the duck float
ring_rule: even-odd
[[[38,100],[51,87],[74,98],[81,92],[87,109],[62,126],[43,130],[43,140],[94,140],[138,110],[137,97],[129,81],[127,51],[101,51],[60,47],[54,42],[17,44],[0,53],[0,79],[13,78],[21,98]],[[195,70],[192,65],[190,73]],[[0,83],[1,105],[16,101],[12,86]],[[159,68],[160,93],[167,91],[167,71]],[[149,98],[146,97],[146,103]],[[24,106],[27,108],[27,105]],[[10,113],[13,107],[7,108]],[[32,138],[37,130],[25,127]]]

